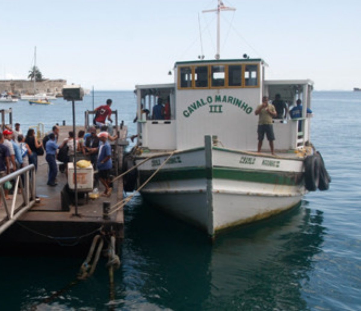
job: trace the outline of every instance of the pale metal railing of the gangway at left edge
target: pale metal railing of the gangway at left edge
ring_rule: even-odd
[[[11,203],[5,199],[4,185],[13,183],[13,198]],[[21,193],[18,194],[18,190]],[[0,178],[0,202],[3,204],[6,216],[0,219],[0,234],[9,228],[23,213],[35,204],[36,174],[33,164],[16,170],[14,173]]]

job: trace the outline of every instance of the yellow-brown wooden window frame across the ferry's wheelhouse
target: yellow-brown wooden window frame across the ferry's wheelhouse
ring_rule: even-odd
[[[212,75],[212,67],[213,66],[224,66],[224,73],[225,73],[225,78],[224,78],[224,86],[212,86],[212,81],[213,81],[213,75]],[[241,85],[229,85],[229,66],[240,66],[241,67]],[[246,85],[246,77],[245,77],[245,73],[246,73],[246,68],[247,66],[256,66],[256,84],[255,85]],[[196,81],[195,81],[195,75],[196,75],[196,68],[197,67],[207,67],[207,77],[208,77],[208,83],[207,86],[196,86]],[[191,77],[192,77],[192,82],[191,82],[191,86],[187,86],[187,87],[182,87],[181,86],[181,71],[182,68],[191,68]],[[178,85],[177,85],[177,89],[178,90],[204,90],[204,89],[219,89],[219,88],[259,88],[260,87],[260,64],[258,63],[218,63],[218,64],[192,64],[192,65],[182,65],[178,67]]]

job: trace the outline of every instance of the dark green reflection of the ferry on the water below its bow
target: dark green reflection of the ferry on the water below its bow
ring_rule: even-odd
[[[127,285],[118,294],[132,295],[140,308],[301,310],[302,286],[325,234],[322,212],[306,205],[222,234],[213,246],[145,204],[131,206],[123,248]]]

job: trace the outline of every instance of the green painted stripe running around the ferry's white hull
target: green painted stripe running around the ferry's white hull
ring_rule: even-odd
[[[235,168],[213,168],[213,178],[228,179],[236,181],[249,181],[271,183],[275,185],[299,185],[302,181],[303,173],[290,173],[290,172],[269,172],[261,170],[247,170]],[[143,183],[154,170],[141,171],[140,182]],[[160,170],[152,181],[175,181],[187,179],[201,179],[207,178],[205,168],[179,168]]]

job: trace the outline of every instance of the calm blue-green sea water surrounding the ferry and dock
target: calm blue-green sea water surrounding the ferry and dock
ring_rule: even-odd
[[[132,92],[96,92],[95,106],[114,100],[133,134]],[[3,107],[9,105],[2,104]],[[71,104],[12,105],[22,128],[71,124]],[[76,104],[77,124],[92,97]],[[361,310],[361,92],[314,92],[312,142],[332,177],[329,191],[271,220],[231,230],[214,245],[202,234],[146,206],[125,208],[122,266],[109,278],[102,259],[89,280],[59,297],[83,257],[0,257],[2,310]]]

